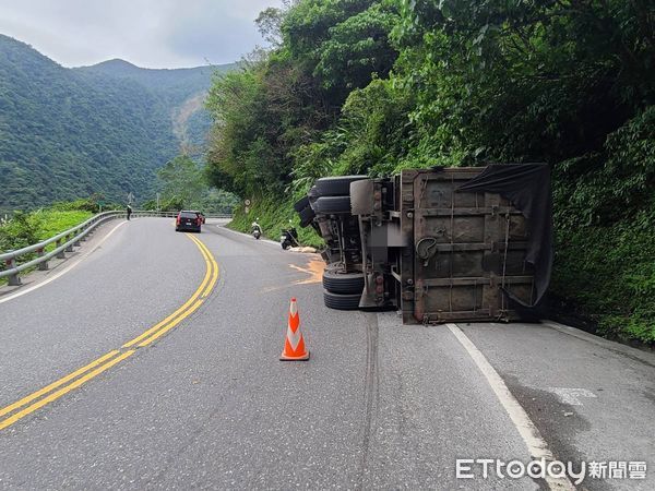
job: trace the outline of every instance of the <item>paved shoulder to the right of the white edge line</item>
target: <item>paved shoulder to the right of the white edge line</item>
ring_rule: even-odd
[[[655,466],[655,356],[549,324],[458,324],[562,462]],[[591,489],[654,489],[592,479]],[[643,487],[643,488],[641,488]]]

